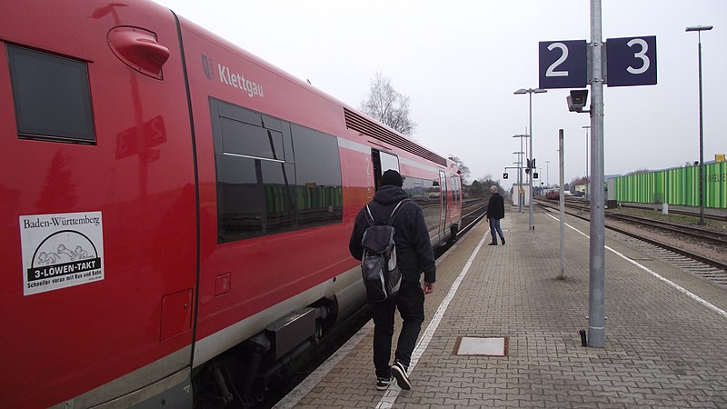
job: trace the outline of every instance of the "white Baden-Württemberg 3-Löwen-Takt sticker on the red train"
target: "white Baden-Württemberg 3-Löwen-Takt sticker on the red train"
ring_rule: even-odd
[[[20,216],[23,294],[104,279],[101,212]]]

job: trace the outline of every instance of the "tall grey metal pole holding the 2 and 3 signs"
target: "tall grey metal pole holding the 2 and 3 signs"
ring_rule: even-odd
[[[591,0],[591,239],[588,291],[588,345],[605,344],[603,191],[603,39],[601,0]]]

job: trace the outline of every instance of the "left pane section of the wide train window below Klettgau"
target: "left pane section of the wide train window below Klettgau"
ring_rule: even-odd
[[[215,104],[216,103],[216,104]],[[218,242],[291,230],[294,165],[284,161],[290,127],[213,100]],[[224,115],[224,116],[223,116]]]

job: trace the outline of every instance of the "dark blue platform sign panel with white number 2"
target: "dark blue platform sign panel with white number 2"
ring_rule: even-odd
[[[588,81],[585,40],[538,43],[538,88],[583,88]]]

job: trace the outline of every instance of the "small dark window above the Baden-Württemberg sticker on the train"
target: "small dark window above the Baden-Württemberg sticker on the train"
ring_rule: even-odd
[[[95,143],[84,62],[16,45],[7,45],[7,56],[20,137]]]

